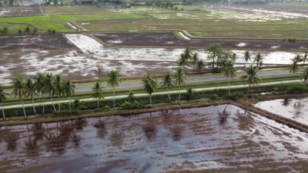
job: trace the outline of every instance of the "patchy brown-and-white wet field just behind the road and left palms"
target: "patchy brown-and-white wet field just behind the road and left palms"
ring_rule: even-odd
[[[0,80],[8,85],[16,75],[33,76],[38,72],[61,73],[65,78],[84,80],[97,77],[97,64],[102,76],[120,70],[123,76],[141,76],[146,72],[164,74],[177,68],[176,62],[114,61],[91,59],[79,50],[0,50]]]

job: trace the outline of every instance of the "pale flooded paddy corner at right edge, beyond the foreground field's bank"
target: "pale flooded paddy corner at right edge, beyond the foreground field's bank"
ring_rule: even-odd
[[[263,101],[256,103],[255,107],[308,125],[308,98]]]

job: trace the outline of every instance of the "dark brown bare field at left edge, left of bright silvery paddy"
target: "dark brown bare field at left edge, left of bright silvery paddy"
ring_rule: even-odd
[[[63,35],[0,36],[0,49],[65,50],[77,49]]]

